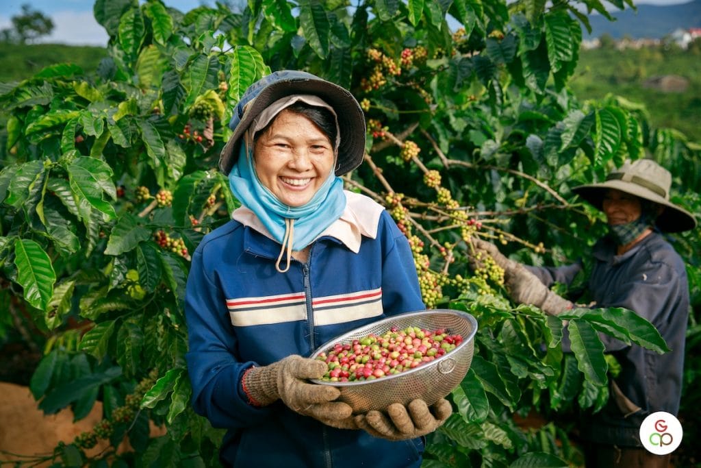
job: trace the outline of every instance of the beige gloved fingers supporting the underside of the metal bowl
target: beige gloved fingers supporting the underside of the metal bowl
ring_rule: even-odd
[[[433,413],[431,413],[433,410]],[[407,406],[393,403],[387,408],[387,414],[381,411],[368,411],[365,415],[355,417],[360,429],[370,435],[389,441],[415,439],[438,429],[453,413],[450,402],[441,399],[428,408],[426,401],[416,399]]]

